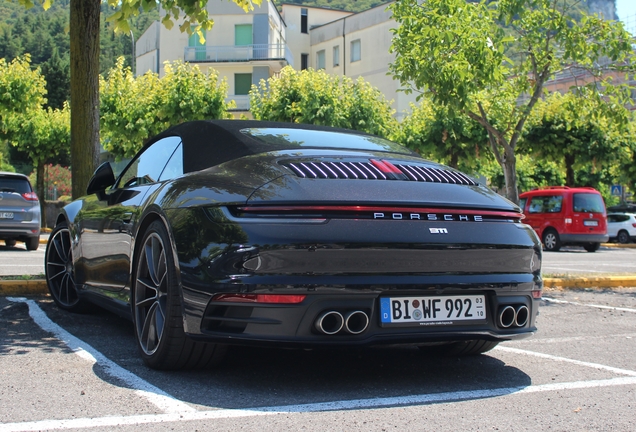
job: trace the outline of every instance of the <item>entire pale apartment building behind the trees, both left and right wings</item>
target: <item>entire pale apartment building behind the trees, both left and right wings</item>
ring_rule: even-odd
[[[388,3],[387,3],[388,4]],[[324,69],[327,73],[363,77],[382,91],[401,116],[415,98],[398,92],[399,83],[387,75],[391,31],[396,23],[387,4],[360,13],[282,4],[272,0],[253,11],[227,0],[209,0],[214,27],[204,34],[181,33],[179,24],[166,29],[153,23],[136,43],[136,72],[163,75],[166,61],[183,60],[203,71],[216,69],[229,86],[228,99],[237,111],[249,110],[252,84],[275,76],[290,65],[297,70]]]

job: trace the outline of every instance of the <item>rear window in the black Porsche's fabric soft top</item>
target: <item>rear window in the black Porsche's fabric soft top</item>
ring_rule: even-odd
[[[370,135],[286,128],[249,128],[241,132],[276,149],[330,148],[413,154],[406,147]]]

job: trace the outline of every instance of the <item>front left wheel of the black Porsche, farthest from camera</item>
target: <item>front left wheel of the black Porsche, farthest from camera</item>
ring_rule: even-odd
[[[56,226],[49,237],[44,253],[44,272],[51,297],[60,309],[86,311],[87,303],[80,298],[75,285],[71,233],[64,222]]]

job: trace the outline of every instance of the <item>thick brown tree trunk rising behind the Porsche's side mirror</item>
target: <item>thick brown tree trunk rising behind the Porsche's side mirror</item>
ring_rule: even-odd
[[[100,0],[71,0],[71,175],[73,198],[99,162]]]

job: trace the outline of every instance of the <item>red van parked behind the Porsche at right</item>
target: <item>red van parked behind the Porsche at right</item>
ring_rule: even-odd
[[[596,252],[609,238],[605,202],[594,188],[535,189],[519,195],[519,205],[547,251],[577,245]]]

